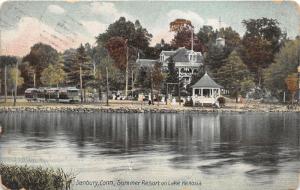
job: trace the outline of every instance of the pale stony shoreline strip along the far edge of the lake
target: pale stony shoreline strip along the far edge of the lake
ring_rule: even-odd
[[[126,105],[115,104],[55,104],[55,105],[0,105],[0,113],[10,112],[74,112],[74,113],[248,113],[248,112],[295,112],[300,113],[300,106],[296,109],[287,109],[286,105],[260,105],[259,107],[246,107],[243,105],[212,107],[184,107],[171,105]]]

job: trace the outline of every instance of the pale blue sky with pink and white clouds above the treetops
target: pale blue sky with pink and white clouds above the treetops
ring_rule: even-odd
[[[139,20],[153,35],[151,45],[170,41],[169,23],[191,20],[203,25],[231,26],[242,36],[244,19],[274,18],[293,39],[300,35],[300,3],[293,1],[2,1],[1,53],[24,56],[38,42],[62,52],[80,43],[95,45],[95,37],[121,16]]]

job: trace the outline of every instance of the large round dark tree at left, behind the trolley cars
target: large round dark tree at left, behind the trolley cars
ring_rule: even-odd
[[[23,58],[22,62],[28,61],[33,67],[35,75],[33,78],[36,79],[36,85],[39,86],[42,84],[40,78],[43,70],[49,64],[56,63],[57,59],[58,53],[54,48],[47,44],[37,43],[31,47],[30,53]]]

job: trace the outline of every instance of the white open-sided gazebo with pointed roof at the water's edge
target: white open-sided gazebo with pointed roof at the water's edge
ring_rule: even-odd
[[[205,73],[204,76],[192,86],[193,105],[215,104],[221,96],[221,85],[217,84],[210,76]]]

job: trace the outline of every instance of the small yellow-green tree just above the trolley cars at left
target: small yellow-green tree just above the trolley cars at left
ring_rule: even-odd
[[[66,77],[66,73],[63,70],[63,61],[60,58],[60,61],[56,64],[50,64],[44,71],[42,72],[41,81],[44,85],[56,85],[58,86],[60,83],[64,82]]]

